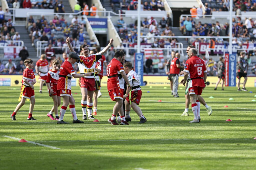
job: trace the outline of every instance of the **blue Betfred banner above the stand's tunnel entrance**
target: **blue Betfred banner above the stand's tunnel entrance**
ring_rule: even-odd
[[[107,18],[88,18],[88,21],[95,33],[106,33],[108,28]]]

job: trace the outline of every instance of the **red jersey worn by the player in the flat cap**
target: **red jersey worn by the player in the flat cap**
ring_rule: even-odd
[[[76,74],[72,64],[65,60],[60,66],[59,80],[57,82],[57,90],[69,89],[71,90],[71,75]]]

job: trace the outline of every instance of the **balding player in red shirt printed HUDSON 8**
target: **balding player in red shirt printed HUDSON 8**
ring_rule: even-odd
[[[186,66],[184,68],[184,81],[182,82],[182,84],[185,86],[187,78],[190,75],[186,93],[189,93],[190,96],[194,120],[189,123],[199,123],[201,120],[200,102],[198,100],[198,96],[202,94],[202,90],[205,88],[207,78],[207,71],[204,61],[196,55],[197,50],[195,48],[190,48],[188,51],[189,59],[186,61]]]

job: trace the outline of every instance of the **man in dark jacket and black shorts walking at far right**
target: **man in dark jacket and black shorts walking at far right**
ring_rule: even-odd
[[[247,66],[248,66],[248,62],[246,59],[244,59],[245,57],[245,52],[241,52],[240,53],[240,57],[238,58],[238,61],[237,61],[237,78],[238,78],[238,81],[237,81],[237,91],[241,91],[240,89],[240,79],[241,77],[244,77],[244,82],[243,82],[243,88],[242,90],[243,91],[248,91],[246,88],[245,88],[245,85],[246,85],[246,82],[247,82]]]

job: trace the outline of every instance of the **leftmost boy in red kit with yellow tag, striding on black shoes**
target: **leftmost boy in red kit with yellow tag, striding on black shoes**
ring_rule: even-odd
[[[14,110],[13,114],[11,114],[12,120],[16,120],[15,115],[19,111],[19,109],[25,104],[26,99],[30,99],[30,107],[29,107],[29,114],[27,120],[36,120],[32,117],[34,106],[35,106],[35,91],[34,91],[34,84],[36,83],[36,77],[33,71],[33,60],[26,59],[24,61],[26,69],[23,71],[22,77],[22,87],[19,96],[19,104],[17,105],[16,109]]]

